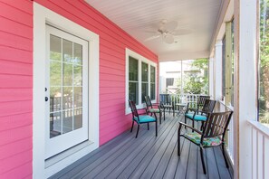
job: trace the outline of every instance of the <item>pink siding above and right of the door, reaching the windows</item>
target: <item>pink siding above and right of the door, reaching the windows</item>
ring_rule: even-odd
[[[35,0],[100,35],[100,144],[131,125],[125,116],[125,48],[158,62],[158,57],[82,0]]]

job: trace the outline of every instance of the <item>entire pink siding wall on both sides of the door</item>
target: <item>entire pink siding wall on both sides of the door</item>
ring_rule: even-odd
[[[35,0],[100,35],[100,144],[130,127],[125,48],[158,57],[82,0]],[[31,178],[33,2],[0,0],[0,178]]]

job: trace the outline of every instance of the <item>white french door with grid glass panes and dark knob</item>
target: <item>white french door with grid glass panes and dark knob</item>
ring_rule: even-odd
[[[46,25],[45,157],[87,140],[88,42]]]

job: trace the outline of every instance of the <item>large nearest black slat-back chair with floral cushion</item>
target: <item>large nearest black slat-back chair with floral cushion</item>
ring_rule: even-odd
[[[222,153],[225,158],[226,167],[229,165],[226,160],[225,155],[225,135],[226,129],[231,120],[233,111],[218,112],[218,113],[208,113],[207,121],[201,130],[197,130],[194,127],[190,127],[185,123],[179,122],[178,127],[178,155],[180,156],[180,137],[185,137],[190,142],[199,146],[200,155],[203,165],[204,174],[207,174],[206,165],[203,156],[203,149],[207,147],[222,146]],[[187,132],[181,134],[181,128],[185,126],[192,129],[192,132]]]

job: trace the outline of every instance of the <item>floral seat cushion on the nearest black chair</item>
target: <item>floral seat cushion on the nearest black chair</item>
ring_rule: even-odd
[[[197,145],[199,145],[201,142],[201,135],[197,134],[196,132],[187,132],[184,134],[184,137],[187,137],[187,139],[191,140]],[[222,141],[220,137],[208,137],[204,138],[203,146],[219,146],[221,143]]]

